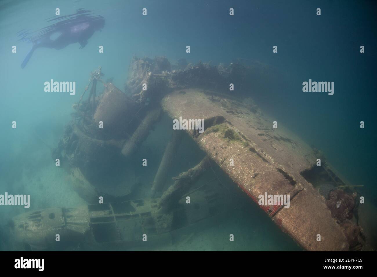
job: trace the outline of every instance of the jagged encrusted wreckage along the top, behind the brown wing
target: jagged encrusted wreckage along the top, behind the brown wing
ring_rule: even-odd
[[[211,66],[211,62],[196,64],[184,61],[171,65],[165,57],[133,57],[129,66],[129,75],[125,85],[126,93],[132,95],[138,103],[159,101],[164,95],[177,89],[201,88],[229,91],[229,84],[238,81],[245,86],[251,73],[248,67],[239,63],[229,66]],[[144,84],[147,89],[143,90]]]

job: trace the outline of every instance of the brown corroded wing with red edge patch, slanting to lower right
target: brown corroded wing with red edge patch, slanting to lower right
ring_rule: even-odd
[[[204,133],[189,133],[255,202],[266,192],[290,195],[289,208],[261,207],[304,249],[348,250],[344,232],[331,217],[324,197],[301,174],[318,157],[300,138],[279,123],[273,129],[275,119],[225,95],[186,89],[169,93],[161,103],[173,119],[205,120]]]

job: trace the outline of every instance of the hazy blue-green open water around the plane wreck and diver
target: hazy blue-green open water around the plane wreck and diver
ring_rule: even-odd
[[[32,44],[19,41],[17,33],[48,26],[46,19],[55,17],[56,8],[61,16],[79,8],[92,10],[105,18],[105,27],[83,49],[78,43],[58,51],[37,49],[21,69]],[[147,16],[142,15],[143,8]],[[234,16],[229,15],[230,8]],[[34,132],[56,147],[89,73],[101,65],[105,79],[113,77],[123,90],[136,55],[165,56],[172,64],[180,58],[211,65],[237,58],[263,64],[262,78],[256,78],[247,92],[236,92],[238,96],[252,97],[279,123],[322,150],[349,182],[364,186],[360,192],[375,204],[375,8],[369,1],[1,1],[0,194],[29,193],[31,209],[85,205],[69,190],[67,176],[51,165],[48,147]],[[98,52],[99,45],[104,53]],[[187,45],[190,54],[185,52]],[[12,53],[12,46],[17,46],[17,53]],[[45,93],[43,83],[50,79],[75,81],[76,95]],[[302,92],[302,82],[309,79],[334,81],[334,95]],[[12,121],[17,129],[11,128]],[[365,129],[360,129],[360,121]],[[153,181],[166,146],[161,141],[169,139],[161,128],[152,134],[140,150],[156,161],[150,175],[143,177],[146,183]],[[197,158],[189,155],[172,176]],[[248,199],[242,203],[242,208],[224,216],[221,228],[201,231],[196,237],[207,239],[194,239],[185,249],[300,249],[256,205]],[[0,206],[0,224],[21,212],[19,207]],[[227,245],[230,232],[242,239]],[[222,233],[224,242],[219,239]]]

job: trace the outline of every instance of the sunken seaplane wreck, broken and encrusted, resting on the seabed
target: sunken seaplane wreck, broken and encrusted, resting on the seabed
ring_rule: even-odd
[[[20,214],[11,224],[15,240],[36,249],[54,245],[56,234],[70,237],[72,243],[86,240],[89,245],[132,246],[144,234],[159,240],[216,216],[219,207],[226,208],[224,188],[192,188],[213,163],[257,205],[261,195],[288,195],[288,207],[267,200],[259,206],[303,249],[363,249],[367,243],[354,215],[354,187],[318,150],[281,124],[273,128],[273,120],[253,101],[229,93],[235,80],[245,89],[252,72],[239,63],[225,68],[181,60],[172,66],[164,57],[134,57],[126,93],[112,80],[104,82],[101,68],[92,72],[85,90],[91,84],[90,94],[85,100],[83,94],[74,105],[73,119],[53,152],[54,159],[63,161],[77,193],[90,205]],[[101,95],[96,95],[97,83],[103,83]],[[171,122],[202,120],[204,132],[174,130],[153,184],[137,199],[136,165],[129,157],[142,147],[162,114],[170,116]],[[169,182],[167,172],[178,159],[176,151],[184,136],[206,156]],[[193,191],[200,195],[200,209],[184,201]],[[100,197],[104,204],[98,204]]]

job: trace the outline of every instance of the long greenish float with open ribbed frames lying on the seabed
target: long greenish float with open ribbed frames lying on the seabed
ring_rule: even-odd
[[[15,242],[31,250],[77,249],[77,245],[80,250],[124,250],[143,246],[143,235],[150,249],[171,242],[176,231],[193,231],[198,224],[210,224],[224,211],[227,201],[223,195],[210,185],[196,191],[195,203],[200,205],[201,213],[193,213],[194,205],[184,201],[161,213],[159,198],[146,197],[32,211],[15,216],[9,225]],[[60,241],[56,240],[57,234]]]

